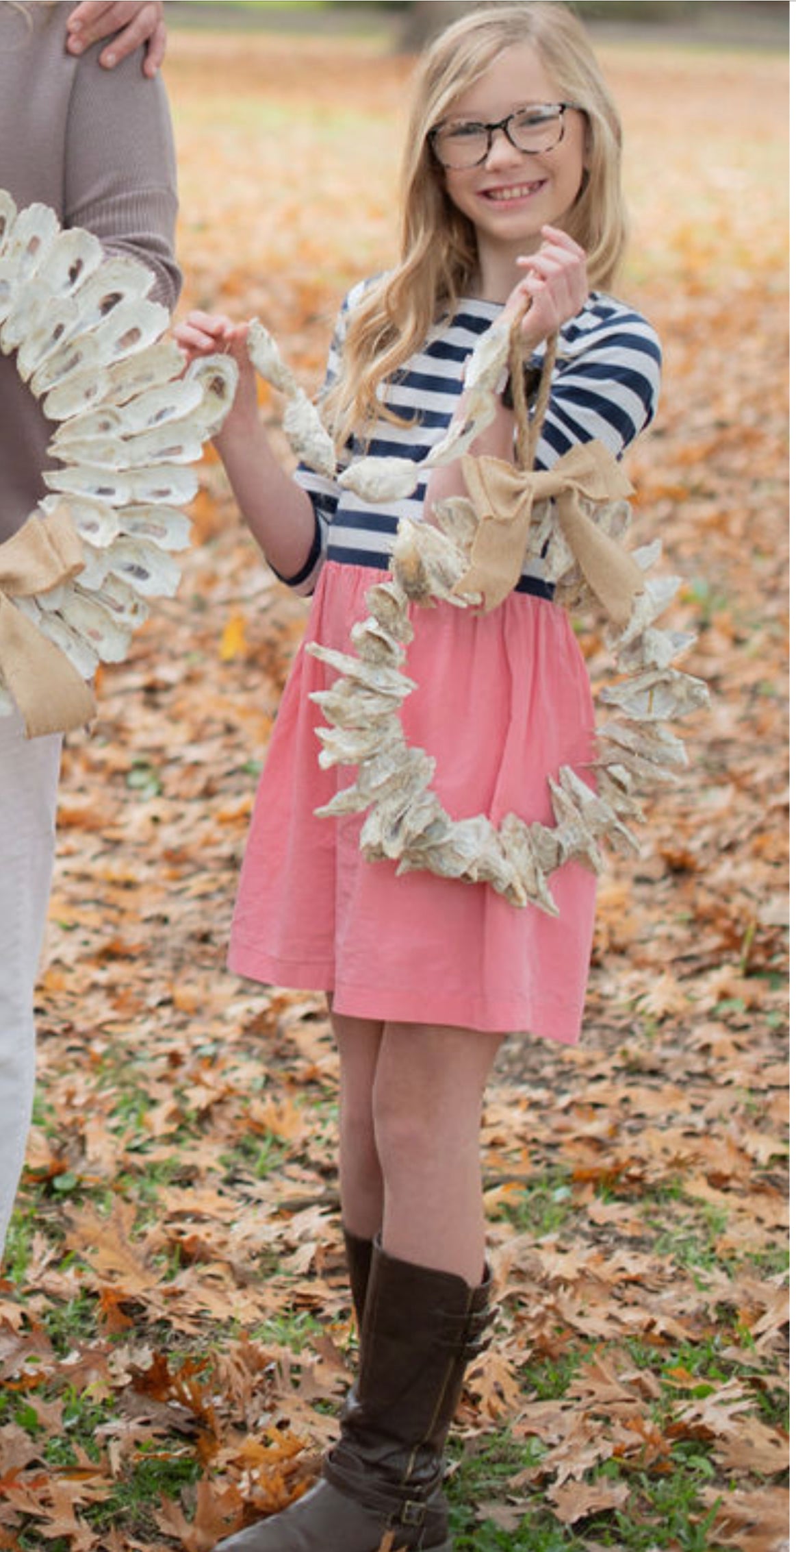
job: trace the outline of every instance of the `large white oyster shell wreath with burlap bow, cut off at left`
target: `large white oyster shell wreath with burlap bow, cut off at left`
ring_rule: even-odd
[[[147,601],[175,593],[189,466],[234,397],[231,357],[185,368],[152,281],[0,189],[0,351],[57,422],[61,464],[43,472],[53,495],[0,545],[0,714],[17,705],[28,736],[90,720],[98,663],[121,661]]]

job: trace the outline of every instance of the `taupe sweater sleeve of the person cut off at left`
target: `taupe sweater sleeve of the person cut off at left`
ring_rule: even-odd
[[[109,253],[154,272],[152,301],[174,309],[177,169],[166,88],[141,74],[141,50],[115,70],[81,56],[64,140],[64,225],[87,227]]]

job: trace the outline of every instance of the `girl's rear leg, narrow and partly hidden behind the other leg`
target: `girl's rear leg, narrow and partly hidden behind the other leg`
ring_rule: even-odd
[[[383,1176],[376,1147],[372,1090],[383,1024],[332,1013],[340,1049],[340,1201],[351,1234],[371,1240],[382,1228]]]

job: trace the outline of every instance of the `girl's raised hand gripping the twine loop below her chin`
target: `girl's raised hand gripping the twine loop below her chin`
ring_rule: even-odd
[[[507,303],[509,323],[521,318],[528,349],[542,345],[563,323],[577,317],[588,296],[587,255],[574,237],[557,227],[543,227],[537,253],[517,259],[526,270]]]

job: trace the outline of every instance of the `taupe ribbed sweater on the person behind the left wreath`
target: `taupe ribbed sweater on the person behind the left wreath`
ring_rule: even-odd
[[[51,205],[65,227],[87,227],[109,253],[155,273],[149,293],[174,307],[177,175],[166,90],[141,74],[141,51],[115,70],[65,51],[71,3],[31,5],[29,20],[0,0],[0,188],[17,208]],[[33,25],[31,25],[33,23]],[[0,542],[45,494],[40,470],[53,427],[0,357]]]

